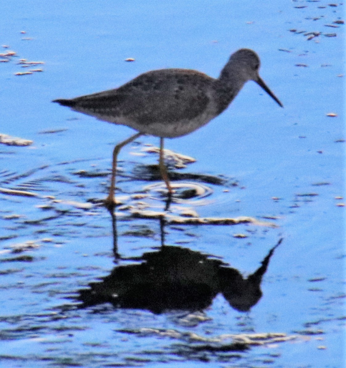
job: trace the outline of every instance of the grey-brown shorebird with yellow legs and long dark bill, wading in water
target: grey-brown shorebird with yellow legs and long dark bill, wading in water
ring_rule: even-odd
[[[181,137],[207,124],[228,107],[249,80],[283,107],[261,79],[259,68],[258,55],[253,50],[240,49],[231,55],[218,78],[191,69],[152,70],[119,88],[53,102],[138,131],[113,150],[111,185],[105,200],[107,208],[113,209],[118,153],[140,135],[160,137],[159,167],[171,197],[173,190],[164,165],[164,138]]]

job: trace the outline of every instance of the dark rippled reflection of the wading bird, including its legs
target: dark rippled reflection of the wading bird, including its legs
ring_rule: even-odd
[[[115,261],[117,250],[116,217],[113,217]],[[79,308],[111,303],[115,308],[145,309],[159,314],[170,310],[202,311],[221,293],[237,311],[249,311],[262,296],[261,281],[275,248],[261,266],[244,278],[235,268],[219,259],[188,248],[164,244],[164,218],[161,224],[161,247],[156,251],[130,258],[137,263],[116,265],[109,276],[79,290]],[[129,258],[127,258],[129,260]]]

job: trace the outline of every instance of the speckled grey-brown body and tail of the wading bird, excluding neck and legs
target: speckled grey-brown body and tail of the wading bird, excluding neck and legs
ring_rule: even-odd
[[[143,133],[178,137],[218,114],[216,81],[195,70],[154,70],[117,89],[56,102]]]

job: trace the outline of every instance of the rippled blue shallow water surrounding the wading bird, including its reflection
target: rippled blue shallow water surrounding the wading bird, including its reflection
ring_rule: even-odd
[[[17,56],[0,59],[0,134],[33,144],[0,145],[0,366],[345,365],[343,7],[3,4],[0,53]],[[249,82],[167,139],[197,161],[171,162],[182,189],[164,222],[158,139],[124,148],[112,223],[100,200],[133,131],[50,101],[157,68],[216,77],[240,47],[284,109]]]

